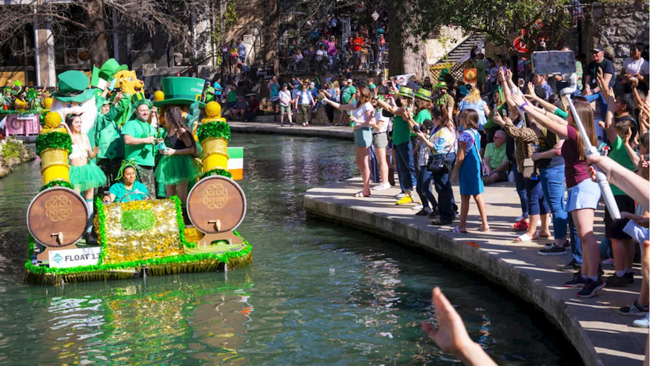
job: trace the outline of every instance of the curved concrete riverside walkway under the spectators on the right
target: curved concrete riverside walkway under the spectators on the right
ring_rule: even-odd
[[[537,251],[543,247],[543,242],[512,242],[517,234],[511,226],[521,215],[519,196],[513,184],[486,187],[484,199],[490,232],[479,230],[480,217],[471,200],[467,234],[452,234],[449,232],[452,227],[430,225],[431,219],[415,216],[413,204],[396,206],[393,197],[399,191],[396,188],[373,193],[368,198],[352,197],[360,190],[360,178],[314,188],[305,193],[305,210],[310,216],[422,247],[504,285],[513,294],[543,310],[575,346],[585,365],[642,364],[648,330],[632,328],[630,325],[635,318],[617,313],[619,307],[630,305],[638,296],[641,283],[638,264],[634,285],[605,288],[590,299],[577,298],[577,289],[563,286],[571,279],[571,274],[555,270],[569,262],[570,255],[542,257]],[[454,186],[454,195],[460,206],[458,186]],[[600,238],[604,229],[603,211],[599,210],[596,216],[595,231]],[[613,266],[604,266],[606,275],[613,269]]]

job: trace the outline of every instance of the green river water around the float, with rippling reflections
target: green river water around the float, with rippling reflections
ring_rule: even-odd
[[[306,219],[305,190],[356,173],[344,141],[234,135],[245,146],[253,264],[212,274],[23,285],[38,163],[0,180],[0,364],[454,363],[419,328],[431,289],[500,365],[576,364],[543,314],[480,275],[341,225]]]

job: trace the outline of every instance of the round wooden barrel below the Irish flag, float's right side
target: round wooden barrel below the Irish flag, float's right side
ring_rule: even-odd
[[[187,196],[187,214],[202,232],[237,229],[246,216],[246,196],[239,184],[225,176],[207,176]]]

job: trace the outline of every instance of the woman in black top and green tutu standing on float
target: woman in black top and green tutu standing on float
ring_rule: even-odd
[[[164,183],[166,197],[177,195],[183,204],[187,203],[187,183],[200,175],[192,154],[196,143],[183,123],[181,109],[168,107],[164,112],[167,134],[159,143],[162,158],[156,167],[156,180]]]

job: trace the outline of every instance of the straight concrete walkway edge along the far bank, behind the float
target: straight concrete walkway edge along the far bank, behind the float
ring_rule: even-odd
[[[286,122],[286,121],[285,121]],[[299,124],[289,127],[285,124],[280,127],[279,117],[276,123],[260,123],[260,122],[236,122],[228,121],[230,130],[232,132],[248,132],[252,134],[282,134],[282,135],[298,135],[305,137],[329,137],[335,139],[352,139],[352,128],[346,126],[322,126],[311,125],[303,127]]]

